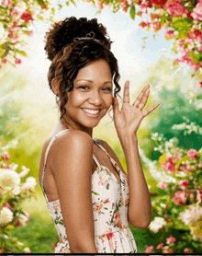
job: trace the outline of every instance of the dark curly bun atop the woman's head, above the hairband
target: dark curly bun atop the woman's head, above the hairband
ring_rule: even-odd
[[[63,21],[55,22],[45,36],[44,49],[48,59],[52,61],[65,45],[73,42],[74,38],[85,37],[90,32],[94,32],[95,40],[101,41],[110,49],[111,41],[107,39],[107,29],[101,23],[97,23],[96,18],[88,20],[86,17],[67,17]]]

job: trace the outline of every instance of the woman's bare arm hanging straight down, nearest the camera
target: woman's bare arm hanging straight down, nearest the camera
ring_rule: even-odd
[[[91,194],[93,140],[82,131],[72,131],[54,142],[50,154],[70,250],[97,253]]]

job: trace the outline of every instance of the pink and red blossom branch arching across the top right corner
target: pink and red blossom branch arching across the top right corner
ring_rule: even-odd
[[[141,17],[139,25],[147,31],[165,29],[165,39],[173,39],[172,50],[180,54],[174,64],[187,64],[202,87],[202,0],[96,0],[96,4],[99,10],[112,5],[114,11],[129,11],[133,19]]]

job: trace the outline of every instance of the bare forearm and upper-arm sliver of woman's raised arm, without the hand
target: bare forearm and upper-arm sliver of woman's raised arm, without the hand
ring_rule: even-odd
[[[148,227],[151,222],[150,192],[140,165],[137,138],[134,136],[124,138],[125,140],[122,140],[121,145],[124,149],[129,177],[129,224],[133,227],[144,228]],[[118,167],[125,172],[110,145],[103,140],[100,140],[100,143],[107,149],[108,154],[115,159]]]

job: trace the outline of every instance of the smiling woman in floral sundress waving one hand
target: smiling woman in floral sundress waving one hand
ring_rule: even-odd
[[[151,221],[137,129],[159,104],[142,111],[147,86],[130,105],[127,81],[119,111],[118,63],[110,45],[96,19],[66,18],[46,35],[48,79],[61,117],[43,146],[39,182],[59,234],[54,252],[137,252],[129,223],[144,228]],[[93,128],[111,106],[128,175],[107,142],[93,139]]]

